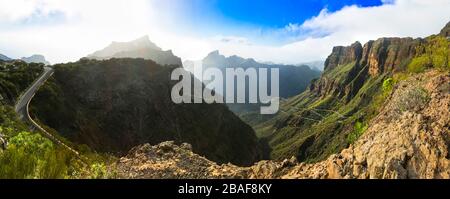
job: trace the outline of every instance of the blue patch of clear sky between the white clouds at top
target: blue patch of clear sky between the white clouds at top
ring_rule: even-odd
[[[200,36],[240,35],[252,41],[277,45],[292,41],[274,32],[289,24],[302,24],[322,10],[335,12],[345,6],[374,7],[381,0],[168,0],[155,3],[164,12],[176,12],[175,26],[195,29]]]

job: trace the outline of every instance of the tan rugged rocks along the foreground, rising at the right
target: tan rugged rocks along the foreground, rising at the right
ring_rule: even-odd
[[[218,165],[189,144],[144,144],[122,157],[120,178],[450,178],[450,75],[429,71],[400,82],[358,141],[314,163]]]

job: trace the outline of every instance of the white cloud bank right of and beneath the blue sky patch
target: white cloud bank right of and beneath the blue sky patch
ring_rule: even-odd
[[[325,59],[333,46],[362,43],[380,37],[426,37],[450,21],[448,0],[385,1],[378,7],[326,9],[303,24],[289,24],[283,31],[307,32],[306,39],[283,46],[220,46],[227,55],[238,53],[258,60],[300,63]],[[326,34],[316,37],[317,34]]]

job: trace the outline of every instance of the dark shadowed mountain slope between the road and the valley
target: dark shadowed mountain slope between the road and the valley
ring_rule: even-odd
[[[255,132],[225,105],[172,102],[176,67],[131,58],[55,65],[31,102],[32,116],[99,152],[123,154],[139,144],[175,140],[221,163],[259,160]]]

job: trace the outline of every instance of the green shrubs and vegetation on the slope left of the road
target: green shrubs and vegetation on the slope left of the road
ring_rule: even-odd
[[[0,148],[0,179],[109,178],[105,164],[115,159],[89,147],[64,142],[80,150],[84,162],[37,132],[29,132],[12,107],[19,95],[42,73],[42,64],[0,62],[0,134],[7,140]],[[52,132],[55,136],[59,134]],[[101,166],[99,166],[101,165]]]

